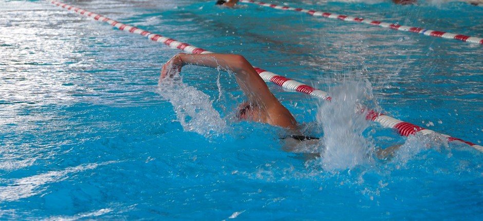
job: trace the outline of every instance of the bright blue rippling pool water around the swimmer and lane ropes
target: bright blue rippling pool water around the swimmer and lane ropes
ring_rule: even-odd
[[[482,145],[481,45],[247,4],[65,3],[329,91],[331,104],[268,83],[326,147],[286,152],[280,128],[235,120],[243,96],[228,73],[185,67],[158,88],[179,50],[44,1],[3,1],[0,219],[483,218],[481,152],[354,114],[363,103]],[[483,8],[466,3],[273,3],[483,36]],[[395,157],[376,157],[393,144]]]

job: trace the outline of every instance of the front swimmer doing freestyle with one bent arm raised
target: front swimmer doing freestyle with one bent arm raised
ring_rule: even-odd
[[[219,68],[234,73],[238,86],[247,97],[247,102],[238,106],[236,116],[240,120],[251,120],[286,128],[291,135],[281,138],[285,142],[283,147],[285,151],[298,152],[296,149],[301,142],[306,145],[319,145],[319,138],[302,135],[293,115],[275,98],[262,77],[243,56],[220,53],[178,53],[161,68],[159,83],[165,81],[166,78],[179,75],[185,65]],[[378,158],[390,158],[399,147],[400,145],[396,145],[387,150],[379,150]]]

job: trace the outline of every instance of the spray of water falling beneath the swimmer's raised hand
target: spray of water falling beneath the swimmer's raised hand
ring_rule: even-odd
[[[227,131],[227,123],[213,107],[210,96],[183,83],[179,75],[160,82],[158,93],[173,105],[184,131],[207,138]]]

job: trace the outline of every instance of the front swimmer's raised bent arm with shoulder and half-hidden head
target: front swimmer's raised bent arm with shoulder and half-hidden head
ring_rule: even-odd
[[[163,81],[166,77],[179,75],[181,68],[188,64],[233,72],[251,107],[247,109],[244,118],[290,130],[298,128],[292,114],[275,98],[264,80],[243,56],[218,53],[178,53],[163,65],[159,81]]]

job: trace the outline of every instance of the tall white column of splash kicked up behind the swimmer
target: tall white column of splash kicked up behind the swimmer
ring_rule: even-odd
[[[364,135],[369,126],[361,109],[373,102],[370,83],[361,76],[335,79],[329,89],[331,102],[319,107],[317,121],[322,126],[322,167],[324,170],[352,169],[371,159],[374,144]]]

